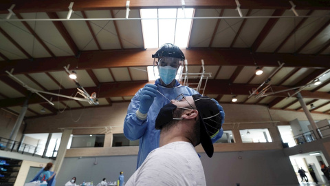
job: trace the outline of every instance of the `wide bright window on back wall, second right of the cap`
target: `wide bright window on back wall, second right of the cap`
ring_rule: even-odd
[[[267,143],[272,142],[268,129],[239,130],[243,143]]]

